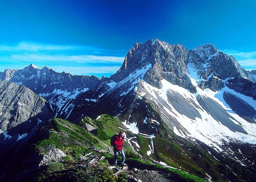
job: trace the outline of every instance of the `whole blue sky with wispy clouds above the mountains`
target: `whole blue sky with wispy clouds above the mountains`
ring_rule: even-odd
[[[110,76],[135,42],[213,44],[256,69],[256,1],[0,1],[0,71]]]

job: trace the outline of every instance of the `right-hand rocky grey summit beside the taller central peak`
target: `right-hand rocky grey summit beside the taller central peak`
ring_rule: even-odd
[[[186,64],[192,71],[196,72],[197,78],[202,80],[199,83],[202,89],[219,90],[224,87],[220,80],[231,77],[244,78],[255,82],[252,74],[243,69],[232,55],[224,54],[212,44],[205,44],[190,50]],[[215,77],[212,77],[211,74],[215,74]],[[216,75],[218,75],[218,79]]]

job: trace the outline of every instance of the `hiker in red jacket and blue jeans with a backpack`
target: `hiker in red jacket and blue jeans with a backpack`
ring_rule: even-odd
[[[114,140],[114,162],[115,164],[117,164],[117,156],[118,154],[121,154],[122,156],[122,166],[124,165],[124,160],[125,160],[125,156],[124,156],[124,150],[122,149],[123,147],[123,140],[124,140],[124,133],[122,131],[119,132],[118,135],[114,135],[115,136],[115,140]]]

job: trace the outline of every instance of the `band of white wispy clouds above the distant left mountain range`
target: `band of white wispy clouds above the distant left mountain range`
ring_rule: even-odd
[[[124,50],[106,50],[93,46],[53,45],[20,42],[17,45],[0,45],[0,71],[22,69],[30,63],[48,66],[58,72],[73,75],[115,73],[124,61]],[[63,70],[61,70],[63,69]]]

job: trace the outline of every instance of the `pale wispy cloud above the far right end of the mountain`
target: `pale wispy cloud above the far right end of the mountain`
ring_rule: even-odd
[[[221,51],[227,55],[233,55],[239,64],[246,70],[256,69],[256,51],[243,52],[230,49],[224,49]]]

